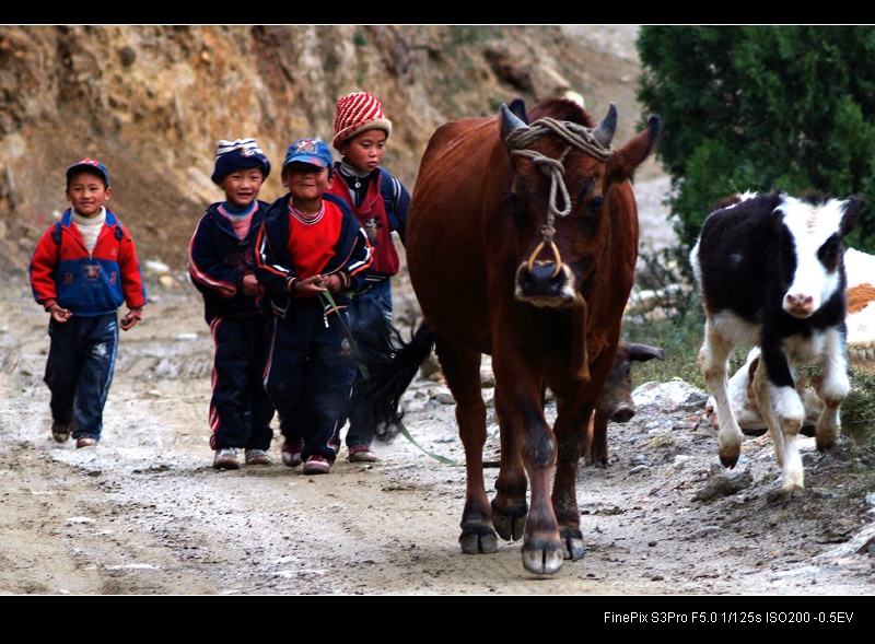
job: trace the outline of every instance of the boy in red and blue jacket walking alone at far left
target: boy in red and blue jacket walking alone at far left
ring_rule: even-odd
[[[67,168],[72,208],[36,245],[28,267],[34,298],[50,315],[44,380],[51,393],[51,436],[77,447],[101,440],[103,409],[118,347],[118,328],[142,319],[140,262],[128,231],[104,203],[109,173],[93,159]],[[118,321],[118,307],[128,313]]]

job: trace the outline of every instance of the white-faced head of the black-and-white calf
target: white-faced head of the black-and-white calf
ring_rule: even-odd
[[[810,317],[844,289],[842,239],[851,232],[862,203],[815,196],[784,196],[774,210],[781,237],[781,306],[796,318]]]

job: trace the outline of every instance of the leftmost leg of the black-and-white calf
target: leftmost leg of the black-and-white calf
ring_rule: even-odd
[[[744,434],[730,405],[730,382],[726,376],[733,342],[714,330],[711,320],[704,325],[704,342],[699,351],[699,366],[711,395],[718,415],[718,454],[723,467],[733,468],[742,454]]]

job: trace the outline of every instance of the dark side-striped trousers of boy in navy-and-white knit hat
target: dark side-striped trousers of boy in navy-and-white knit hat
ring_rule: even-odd
[[[210,323],[215,354],[210,400],[210,447],[269,449],[273,403],[265,391],[268,320],[217,317]]]

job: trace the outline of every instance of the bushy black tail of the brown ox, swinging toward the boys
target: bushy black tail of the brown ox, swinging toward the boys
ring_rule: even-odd
[[[422,321],[410,341],[405,341],[397,329],[393,330],[388,360],[366,363],[368,375],[357,388],[350,406],[350,424],[380,428],[397,424],[404,417],[399,410],[401,396],[416,377],[420,365],[434,347],[434,333]],[[377,432],[377,436],[382,436]]]

